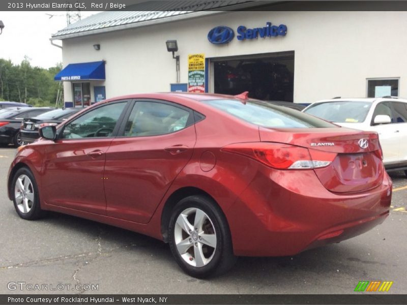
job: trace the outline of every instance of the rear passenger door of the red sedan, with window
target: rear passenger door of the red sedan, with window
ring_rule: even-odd
[[[106,214],[148,223],[188,163],[196,142],[193,111],[178,104],[137,100],[121,137],[106,153]]]

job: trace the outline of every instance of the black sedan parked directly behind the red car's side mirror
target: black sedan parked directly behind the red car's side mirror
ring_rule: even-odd
[[[45,112],[35,117],[24,118],[21,123],[21,141],[32,143],[40,137],[38,130],[47,125],[58,125],[83,108],[64,108]]]

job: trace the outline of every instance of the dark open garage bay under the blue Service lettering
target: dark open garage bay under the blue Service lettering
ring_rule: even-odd
[[[294,52],[211,59],[215,93],[237,95],[249,92],[250,98],[294,100]]]

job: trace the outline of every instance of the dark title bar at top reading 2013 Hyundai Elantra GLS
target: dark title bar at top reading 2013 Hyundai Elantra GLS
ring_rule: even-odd
[[[0,11],[407,11],[407,1],[1,0]]]

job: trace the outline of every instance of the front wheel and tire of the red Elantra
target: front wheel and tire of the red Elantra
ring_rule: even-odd
[[[22,167],[14,174],[11,193],[14,208],[22,219],[35,220],[45,215],[40,206],[37,183],[28,168]]]

